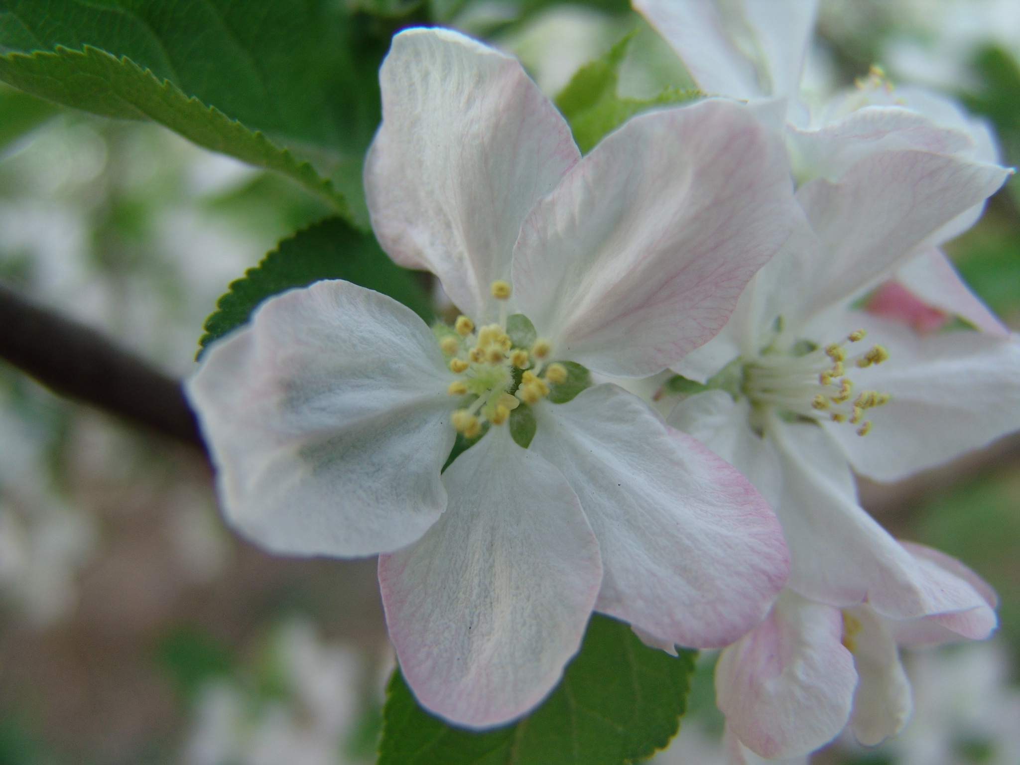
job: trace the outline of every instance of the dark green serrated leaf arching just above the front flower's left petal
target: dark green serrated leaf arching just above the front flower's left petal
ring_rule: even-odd
[[[370,234],[332,217],[284,240],[258,266],[233,282],[230,292],[216,301],[216,311],[205,320],[199,345],[205,349],[245,323],[266,298],[323,278],[367,287],[399,300],[426,321],[435,318],[431,301],[411,271],[390,260]]]

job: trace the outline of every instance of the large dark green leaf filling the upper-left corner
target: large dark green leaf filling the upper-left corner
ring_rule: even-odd
[[[2,0],[0,80],[98,114],[154,119],[338,203],[319,174],[360,195],[389,32],[334,0]]]

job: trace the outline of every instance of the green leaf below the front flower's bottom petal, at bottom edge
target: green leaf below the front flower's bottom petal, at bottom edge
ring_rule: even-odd
[[[648,648],[626,624],[594,614],[580,653],[542,706],[480,733],[423,711],[397,670],[378,765],[623,765],[650,757],[679,728],[696,656]]]

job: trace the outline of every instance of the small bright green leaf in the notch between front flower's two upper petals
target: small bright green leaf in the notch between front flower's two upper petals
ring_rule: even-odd
[[[621,98],[616,94],[619,67],[635,32],[626,35],[602,58],[585,64],[556,97],[556,105],[570,123],[574,141],[583,153],[608,133],[639,112],[700,98],[698,90],[666,88],[652,98]]]

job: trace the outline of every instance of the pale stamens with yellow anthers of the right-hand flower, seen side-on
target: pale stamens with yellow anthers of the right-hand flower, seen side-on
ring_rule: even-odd
[[[858,436],[867,436],[871,420],[866,410],[882,406],[887,393],[861,391],[854,396],[854,381],[847,369],[880,364],[889,357],[882,346],[848,357],[848,346],[864,339],[864,329],[852,332],[839,343],[824,348],[803,342],[790,353],[772,353],[768,349],[744,366],[742,392],[752,403],[771,406],[800,417],[858,424]]]

